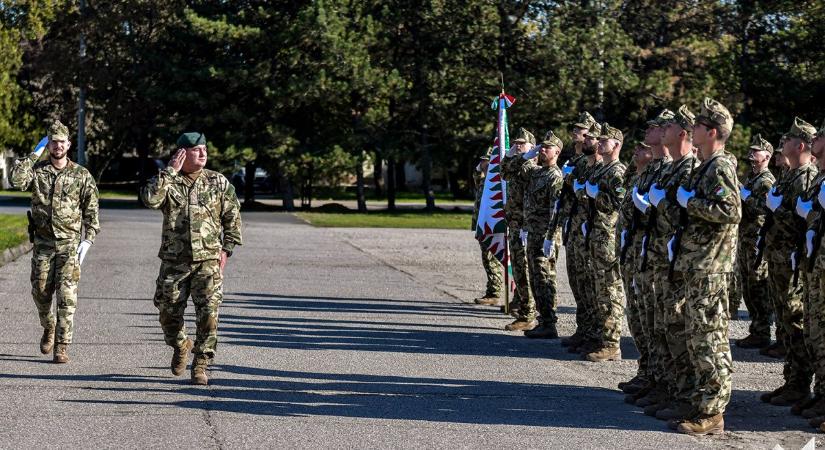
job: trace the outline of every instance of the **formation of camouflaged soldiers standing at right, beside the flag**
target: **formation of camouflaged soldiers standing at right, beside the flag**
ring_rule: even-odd
[[[743,298],[751,324],[736,345],[785,360],[784,383],[762,400],[825,431],[825,123],[796,118],[777,151],[756,135],[742,183],[725,148],[732,129],[712,99],[698,114],[665,109],[647,122],[632,172],[618,159],[622,132],[586,112],[560,169],[558,137],[536,146],[520,129],[501,164],[516,285],[506,329],[558,337],[563,244],[576,330],[562,345],[588,361],[621,359],[626,315],[640,358],[619,385],[625,400],[679,432],[716,434],[731,395],[728,325]],[[496,304],[487,294],[483,304]]]

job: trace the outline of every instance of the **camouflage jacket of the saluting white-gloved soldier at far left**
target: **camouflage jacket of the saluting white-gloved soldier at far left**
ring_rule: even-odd
[[[94,242],[100,232],[97,185],[83,166],[69,161],[62,170],[50,161],[36,162],[29,155],[12,168],[11,182],[21,191],[31,191],[32,220],[36,241]]]

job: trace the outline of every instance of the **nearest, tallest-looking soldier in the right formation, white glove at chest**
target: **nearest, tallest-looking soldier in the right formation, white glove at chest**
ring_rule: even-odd
[[[728,345],[728,277],[734,270],[738,224],[742,218],[739,182],[725,142],[733,117],[706,98],[693,127],[702,164],[679,187],[679,228],[668,242],[674,272],[685,280],[688,354],[694,369],[694,413],[674,419],[681,433],[718,434],[730,401],[732,359]]]

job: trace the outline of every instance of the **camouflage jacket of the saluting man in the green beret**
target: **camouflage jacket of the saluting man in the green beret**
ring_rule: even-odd
[[[158,257],[165,260],[219,259],[241,245],[241,206],[235,188],[211,170],[193,181],[172,167],[140,191],[146,206],[163,212],[163,237]]]

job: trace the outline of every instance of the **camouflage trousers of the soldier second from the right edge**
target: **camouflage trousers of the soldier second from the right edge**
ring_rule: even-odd
[[[768,288],[776,314],[777,327],[782,328],[782,341],[788,353],[782,375],[785,384],[808,389],[813,367],[805,347],[803,332],[803,276],[793,285],[793,270],[789,263],[768,262]],[[777,333],[779,335],[779,333]]]

